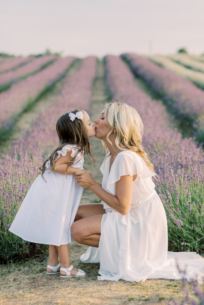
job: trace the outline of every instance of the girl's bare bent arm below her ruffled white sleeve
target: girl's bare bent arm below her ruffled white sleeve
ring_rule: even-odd
[[[63,175],[65,175],[65,174],[67,174],[67,175],[75,174],[76,171],[79,171],[79,172],[83,173],[82,170],[80,170],[78,167],[69,166],[68,169],[66,170],[67,164],[72,160],[71,152],[72,152],[71,150],[68,150],[66,156],[61,155],[54,162],[54,167],[55,167],[54,172],[55,173],[63,174]]]

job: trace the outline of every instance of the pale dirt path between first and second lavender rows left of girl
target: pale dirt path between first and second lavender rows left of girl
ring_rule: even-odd
[[[68,72],[65,75],[65,77],[75,72],[76,69],[79,67],[79,65],[80,65],[79,60],[74,62],[68,69]],[[1,156],[4,155],[5,153],[11,152],[11,150],[13,149],[13,143],[17,141],[20,137],[23,137],[23,135],[28,130],[28,128],[31,127],[32,122],[36,120],[36,118],[39,116],[39,113],[44,109],[46,109],[47,107],[49,107],[54,102],[54,100],[61,92],[63,80],[64,77],[60,81],[57,81],[56,84],[53,85],[53,88],[51,88],[51,90],[45,93],[43,95],[43,98],[37,101],[32,106],[31,109],[21,114],[17,123],[13,127],[12,135],[9,137],[9,139],[6,142],[0,145]]]

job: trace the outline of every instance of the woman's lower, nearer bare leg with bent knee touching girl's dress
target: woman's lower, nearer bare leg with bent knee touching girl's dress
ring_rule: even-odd
[[[103,214],[82,218],[71,226],[73,238],[87,246],[98,247],[101,236],[101,220]]]

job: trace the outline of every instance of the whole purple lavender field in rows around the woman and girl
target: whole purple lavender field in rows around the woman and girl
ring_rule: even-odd
[[[103,107],[101,103],[96,104],[98,97],[94,97],[97,92],[99,95],[99,91],[109,95],[110,99],[128,102],[138,110],[143,120],[143,146],[158,174],[155,184],[167,215],[169,250],[204,253],[204,152],[202,145],[198,145],[203,139],[204,92],[190,81],[135,54],[125,54],[122,58],[105,56],[100,66],[105,71],[106,88],[95,87],[99,66],[95,56],[84,59],[55,56],[53,63],[40,71],[40,66],[50,59],[10,59],[0,63],[2,84],[4,80],[5,83],[15,80],[15,84],[0,93],[2,151],[5,145],[12,144],[9,146],[12,149],[1,154],[0,161],[0,261],[32,257],[46,251],[44,246],[25,242],[8,229],[36,178],[37,167],[57,144],[57,118],[75,108],[84,109],[97,117]],[[68,73],[76,63],[76,68]],[[144,79],[150,90],[158,92],[161,100],[153,100],[143,91],[134,74]],[[23,75],[25,78],[18,80]],[[32,112],[29,105],[35,105],[37,98],[40,102],[45,90],[49,99],[49,90],[56,82],[61,87],[54,100],[50,97],[49,106],[39,111],[26,132],[19,135],[18,141],[10,143],[9,134],[14,132],[22,113]],[[189,118],[196,138],[184,138],[178,132],[166,102],[177,113],[177,120]],[[101,155],[102,146],[96,146],[94,150],[93,144],[95,173],[104,157]]]

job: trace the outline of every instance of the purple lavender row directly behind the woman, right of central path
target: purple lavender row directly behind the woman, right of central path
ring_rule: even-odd
[[[204,252],[202,149],[173,129],[165,106],[141,91],[121,58],[105,61],[113,98],[132,104],[143,120],[143,145],[158,173],[155,183],[168,218],[169,249]]]

